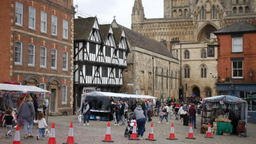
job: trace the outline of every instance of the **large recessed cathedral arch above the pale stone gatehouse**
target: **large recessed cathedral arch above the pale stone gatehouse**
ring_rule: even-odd
[[[197,36],[197,41],[200,41],[200,42],[210,41],[211,33],[215,31],[217,31],[217,28],[212,26],[211,24],[204,26]]]

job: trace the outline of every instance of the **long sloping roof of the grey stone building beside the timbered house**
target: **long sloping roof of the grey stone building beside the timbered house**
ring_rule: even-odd
[[[167,50],[166,46],[160,43],[159,41],[150,39],[126,27],[124,27],[124,31],[125,31],[127,41],[129,41],[129,43],[132,46],[137,46],[142,49],[152,51],[166,57],[174,58],[172,56],[172,53]]]

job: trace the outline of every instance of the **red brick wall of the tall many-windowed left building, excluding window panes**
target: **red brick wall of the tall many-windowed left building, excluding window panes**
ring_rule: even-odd
[[[15,23],[15,4],[22,3],[22,25]],[[56,89],[56,113],[73,113],[73,0],[10,0],[3,1],[1,8],[0,83],[17,81],[22,85],[45,84],[48,91]],[[36,9],[35,29],[28,27],[29,7]],[[41,32],[41,11],[45,11],[46,33]],[[51,16],[57,17],[57,34],[51,34]],[[68,38],[63,38],[63,20],[68,21]],[[21,64],[15,64],[15,41],[22,43]],[[28,65],[28,44],[33,44],[34,65]],[[40,67],[40,47],[46,48],[46,67]],[[57,50],[56,68],[51,68],[51,50]],[[62,69],[63,51],[68,53],[67,70]],[[62,86],[67,86],[67,103],[62,103]]]

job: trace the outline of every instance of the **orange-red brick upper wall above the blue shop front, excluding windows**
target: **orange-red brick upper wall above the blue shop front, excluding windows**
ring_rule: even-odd
[[[249,76],[249,70],[254,71],[254,82],[256,77],[256,33],[243,34],[243,52],[232,52],[231,34],[217,35],[218,44],[218,76],[220,82],[226,81],[230,77],[232,82],[253,82]],[[243,79],[232,79],[232,61],[231,58],[244,58],[243,60]]]

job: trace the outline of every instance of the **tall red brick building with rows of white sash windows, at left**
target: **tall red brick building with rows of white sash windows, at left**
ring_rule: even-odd
[[[73,113],[73,0],[10,0],[1,6],[0,82],[51,91],[51,113]]]

